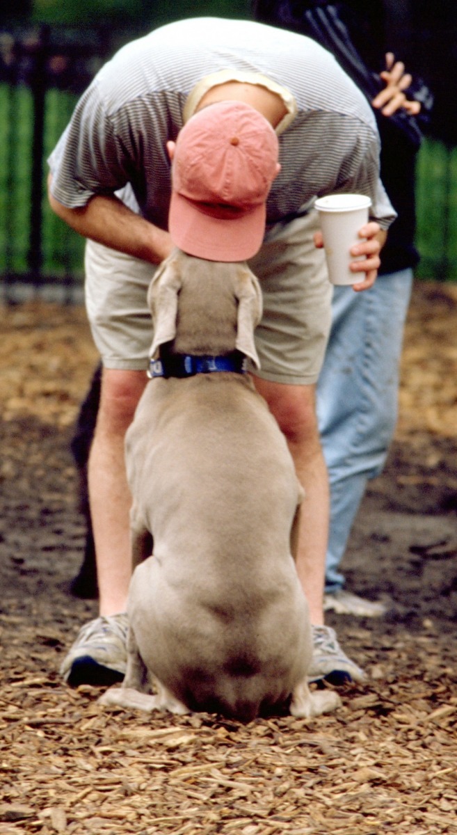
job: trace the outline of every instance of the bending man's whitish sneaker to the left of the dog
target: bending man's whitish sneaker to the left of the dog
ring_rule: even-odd
[[[123,681],[127,668],[126,612],[89,620],[79,630],[60,674],[72,687],[80,684],[108,686]]]

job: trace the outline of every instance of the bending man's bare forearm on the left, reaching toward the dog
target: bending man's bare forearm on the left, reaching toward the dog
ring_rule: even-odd
[[[51,184],[52,175],[49,175],[51,208],[79,235],[151,264],[159,264],[172,251],[173,243],[168,232],[136,215],[117,197],[95,195],[87,205],[68,209],[55,199]]]

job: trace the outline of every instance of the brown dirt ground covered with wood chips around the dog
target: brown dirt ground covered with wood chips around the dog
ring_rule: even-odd
[[[79,307],[0,307],[0,835],[457,833],[457,287],[418,283],[400,419],[345,559],[382,620],[333,615],[369,674],[314,721],[144,716],[58,666],[96,613],[69,439],[96,354]]]

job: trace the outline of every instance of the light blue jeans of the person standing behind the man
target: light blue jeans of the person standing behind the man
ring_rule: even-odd
[[[317,387],[330,483],[327,592],[344,584],[339,563],[367,482],[382,471],[394,434],[412,279],[412,270],[403,270],[379,276],[361,293],[334,287],[332,329]]]

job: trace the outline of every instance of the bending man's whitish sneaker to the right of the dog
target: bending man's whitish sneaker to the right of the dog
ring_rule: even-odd
[[[344,681],[365,681],[364,671],[343,652],[330,626],[312,626],[312,630],[313,659],[308,681],[326,679],[335,685],[344,684]]]

